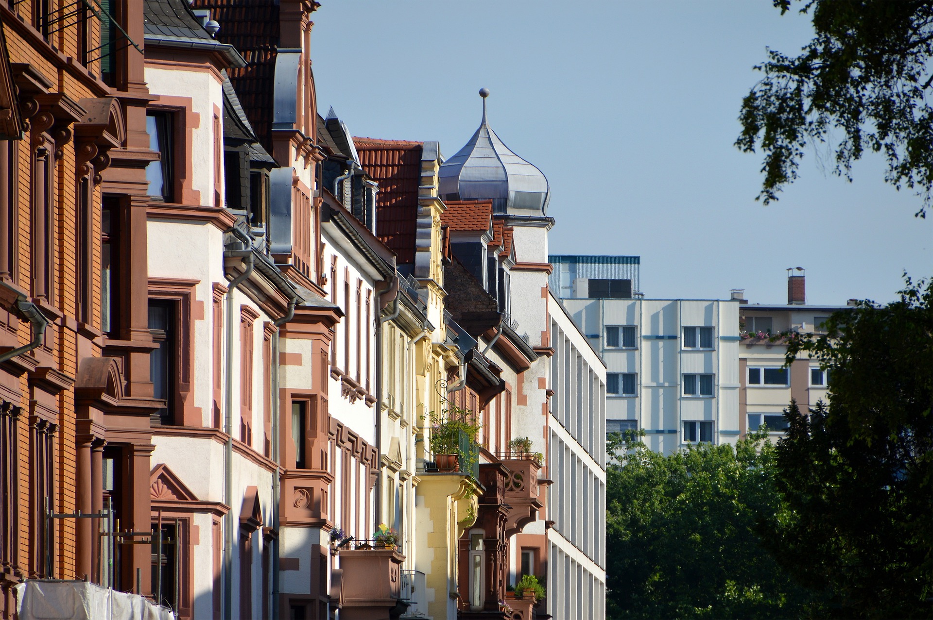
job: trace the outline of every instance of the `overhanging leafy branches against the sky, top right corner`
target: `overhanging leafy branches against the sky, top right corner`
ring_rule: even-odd
[[[797,178],[806,145],[832,145],[834,172],[851,179],[864,152],[887,159],[885,181],[915,188],[926,216],[933,186],[933,3],[802,0],[815,38],[796,57],[768,50],[764,78],[742,103],[744,152],[760,147],[759,199]],[[792,0],[773,0],[782,15]]]

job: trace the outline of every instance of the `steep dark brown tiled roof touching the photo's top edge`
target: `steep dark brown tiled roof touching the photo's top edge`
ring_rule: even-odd
[[[259,143],[272,152],[272,95],[279,44],[279,3],[276,0],[194,0],[193,7],[210,9],[211,19],[220,24],[216,40],[237,48],[248,62],[244,68],[230,70],[230,82],[243,103]]]

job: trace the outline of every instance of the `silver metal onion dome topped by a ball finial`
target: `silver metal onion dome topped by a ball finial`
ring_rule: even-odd
[[[513,153],[486,121],[486,96],[480,90],[480,129],[440,166],[440,195],[444,200],[493,200],[497,214],[543,215],[550,186],[544,173]]]

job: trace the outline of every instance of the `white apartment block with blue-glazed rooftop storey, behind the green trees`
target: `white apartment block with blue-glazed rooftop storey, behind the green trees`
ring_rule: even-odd
[[[735,443],[739,301],[646,299],[637,256],[550,256],[551,288],[606,362],[606,431],[644,430],[648,448]]]

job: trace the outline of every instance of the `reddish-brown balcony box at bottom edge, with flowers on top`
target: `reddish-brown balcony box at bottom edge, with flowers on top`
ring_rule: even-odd
[[[390,614],[397,617],[405,556],[394,548],[366,548],[369,546],[358,544],[354,549],[340,549],[344,620],[388,618]]]

